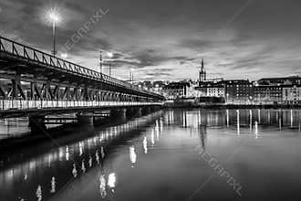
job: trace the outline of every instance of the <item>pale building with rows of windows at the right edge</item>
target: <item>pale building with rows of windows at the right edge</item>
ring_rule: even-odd
[[[282,99],[285,104],[301,104],[301,85],[287,85],[282,88]]]

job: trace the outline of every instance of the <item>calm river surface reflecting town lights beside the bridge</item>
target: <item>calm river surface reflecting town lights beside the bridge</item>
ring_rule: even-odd
[[[301,200],[300,121],[298,110],[174,110],[81,127],[72,143],[0,153],[0,200]]]

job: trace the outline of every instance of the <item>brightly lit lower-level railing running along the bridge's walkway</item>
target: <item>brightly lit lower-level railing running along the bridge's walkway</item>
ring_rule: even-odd
[[[30,109],[55,109],[77,107],[106,107],[106,106],[138,106],[161,105],[161,102],[138,101],[70,101],[70,100],[0,100],[0,111],[30,110]]]

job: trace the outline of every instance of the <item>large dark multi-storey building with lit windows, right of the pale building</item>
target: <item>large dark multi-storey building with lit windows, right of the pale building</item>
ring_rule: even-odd
[[[224,80],[223,84],[227,103],[245,104],[253,101],[254,86],[248,79]]]

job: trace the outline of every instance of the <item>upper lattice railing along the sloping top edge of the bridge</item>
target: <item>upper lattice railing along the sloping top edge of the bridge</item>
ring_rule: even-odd
[[[101,82],[105,82],[111,85],[117,85],[128,90],[136,90],[138,92],[148,94],[153,97],[160,97],[159,94],[152,93],[148,90],[141,90],[140,88],[130,84],[129,82],[112,78],[106,74],[99,73],[95,70],[79,66],[78,64],[69,62],[65,59],[54,57],[36,48],[30,48],[26,45],[0,36],[0,52],[1,51],[12,54],[17,58],[24,58],[27,61],[34,61],[38,64],[46,65],[55,69],[65,69],[68,72],[88,77],[90,79],[97,79]]]

